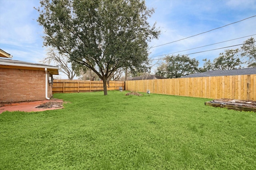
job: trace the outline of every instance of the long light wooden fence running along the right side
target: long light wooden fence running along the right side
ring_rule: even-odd
[[[199,98],[256,100],[256,74],[158,80],[130,80],[126,90]]]

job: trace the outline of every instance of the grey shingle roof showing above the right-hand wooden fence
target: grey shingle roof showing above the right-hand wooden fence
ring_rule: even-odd
[[[206,71],[206,72],[197,72],[194,74],[189,74],[187,76],[183,76],[181,78],[210,77],[210,76],[235,76],[235,75],[248,75],[248,74],[256,74],[256,67],[242,68],[242,69],[235,69],[235,70],[211,70],[211,71]]]

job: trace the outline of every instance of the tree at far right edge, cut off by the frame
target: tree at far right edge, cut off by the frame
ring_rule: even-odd
[[[244,45],[242,45],[242,57],[246,57],[248,60],[246,63],[248,67],[256,67],[256,43],[253,37],[244,41]]]

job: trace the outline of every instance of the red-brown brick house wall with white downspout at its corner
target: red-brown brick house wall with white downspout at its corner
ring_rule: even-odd
[[[45,100],[45,71],[0,68],[0,102],[28,100]]]

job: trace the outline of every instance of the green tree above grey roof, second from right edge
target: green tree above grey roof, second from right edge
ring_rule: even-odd
[[[239,49],[227,49],[213,60],[214,70],[233,70],[241,68],[243,62],[239,58]]]

